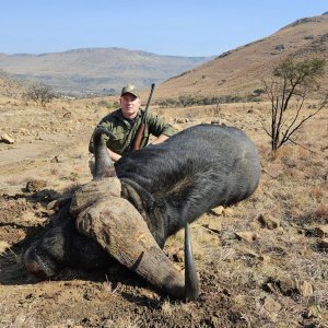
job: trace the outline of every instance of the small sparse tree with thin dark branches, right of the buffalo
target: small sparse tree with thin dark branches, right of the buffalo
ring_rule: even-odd
[[[318,114],[327,104],[327,95],[315,112],[307,116],[301,113],[304,101],[313,92],[319,92],[319,78],[324,74],[324,59],[314,58],[296,61],[286,58],[274,70],[270,81],[262,80],[265,93],[271,103],[271,127],[266,132],[271,138],[271,149],[278,150],[309,118]],[[295,101],[293,106],[291,101]],[[291,114],[288,118],[286,114]]]

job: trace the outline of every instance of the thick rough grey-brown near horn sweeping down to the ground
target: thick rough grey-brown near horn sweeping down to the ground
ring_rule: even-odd
[[[190,279],[185,279],[166,257],[141,214],[126,199],[108,197],[99,200],[79,214],[77,227],[120,263],[169,296],[185,298],[188,295],[188,300],[198,296],[197,283],[189,292],[190,288],[185,286],[185,282],[189,283]]]

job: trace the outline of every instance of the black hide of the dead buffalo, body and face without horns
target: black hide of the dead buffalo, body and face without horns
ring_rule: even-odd
[[[260,176],[257,149],[246,134],[212,125],[188,128],[161,144],[128,153],[115,163],[115,169],[121,197],[141,213],[161,247],[186,222],[247,198]],[[48,267],[40,270],[48,277],[62,266],[91,269],[107,263],[104,259],[109,256],[78,233],[68,207],[26,251],[30,272],[34,273],[33,261],[37,269]]]

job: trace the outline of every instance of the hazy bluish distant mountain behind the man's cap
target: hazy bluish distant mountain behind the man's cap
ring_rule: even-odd
[[[63,93],[117,93],[128,83],[140,89],[190,70],[210,57],[160,56],[122,48],[85,48],[40,55],[0,54],[0,69],[44,82]]]

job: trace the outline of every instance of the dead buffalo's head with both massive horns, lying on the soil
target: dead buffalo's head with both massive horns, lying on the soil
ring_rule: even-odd
[[[107,131],[97,128],[93,134],[93,180],[74,192],[67,216],[72,218],[71,222],[74,222],[78,232],[87,237],[84,244],[89,244],[90,239],[96,242],[107,256],[115,258],[169,296],[195,300],[199,294],[199,286],[188,223],[185,231],[186,268],[183,274],[157,245],[141,213],[122,198],[121,181],[108,155],[103,133]],[[51,233],[56,235],[54,230]],[[66,231],[60,233],[63,236]],[[63,239],[69,241],[69,237],[57,236],[56,243],[65,243]],[[24,255],[27,271],[38,278],[51,277],[57,272],[56,259],[60,258],[62,262],[63,257],[70,257],[63,247],[47,247],[43,243],[45,244],[45,238],[32,245]],[[63,255],[54,254],[54,249],[58,248]]]

